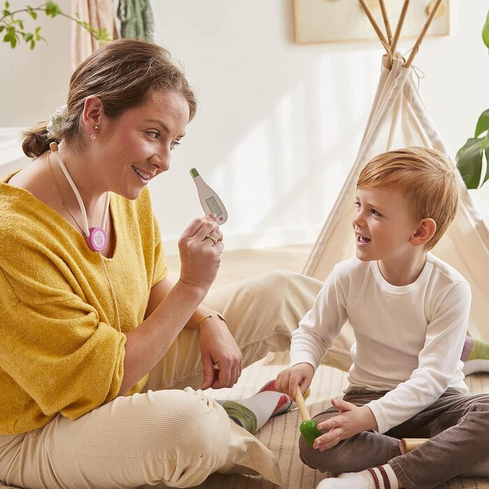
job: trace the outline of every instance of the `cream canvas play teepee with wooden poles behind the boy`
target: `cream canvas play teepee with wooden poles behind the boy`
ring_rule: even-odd
[[[447,154],[432,124],[416,88],[416,77],[411,63],[435,17],[442,0],[438,0],[423,27],[409,59],[404,61],[396,52],[409,0],[404,0],[395,34],[384,5],[379,0],[386,34],[374,20],[365,0],[360,0],[387,54],[384,55],[379,86],[374,97],[370,117],[346,182],[340,191],[326,224],[316,240],[303,272],[318,279],[326,279],[333,266],[354,254],[351,219],[354,207],[356,182],[363,166],[372,156],[402,146],[424,146],[439,149]],[[457,175],[459,173],[457,172]],[[459,175],[460,177],[460,175]],[[477,211],[462,177],[460,180],[460,204],[458,214],[446,235],[433,249],[433,253],[455,267],[472,287],[472,309],[469,332],[489,341],[489,231]]]

